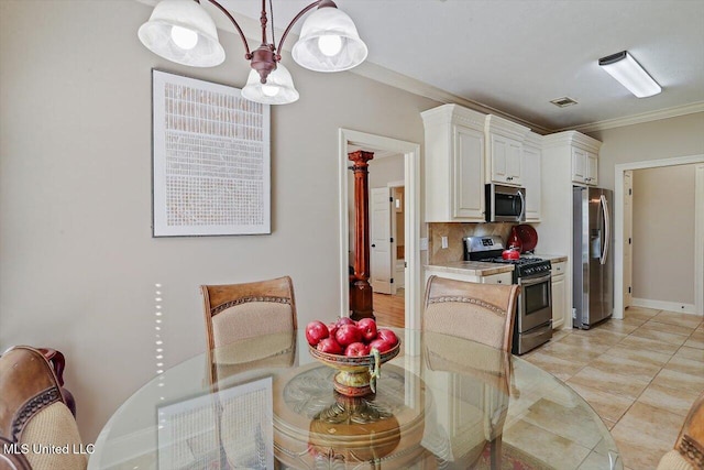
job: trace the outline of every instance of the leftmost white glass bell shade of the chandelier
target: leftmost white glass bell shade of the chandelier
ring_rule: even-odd
[[[154,54],[191,67],[213,67],[224,61],[216,23],[193,0],[162,0],[138,35]]]

